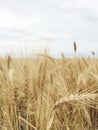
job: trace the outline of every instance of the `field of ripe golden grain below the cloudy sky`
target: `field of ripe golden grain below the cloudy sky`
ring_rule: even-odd
[[[98,130],[98,59],[0,58],[0,130]]]

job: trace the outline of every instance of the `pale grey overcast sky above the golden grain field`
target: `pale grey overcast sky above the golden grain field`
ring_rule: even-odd
[[[98,52],[98,0],[0,0],[0,54]],[[97,54],[96,54],[97,55]]]

